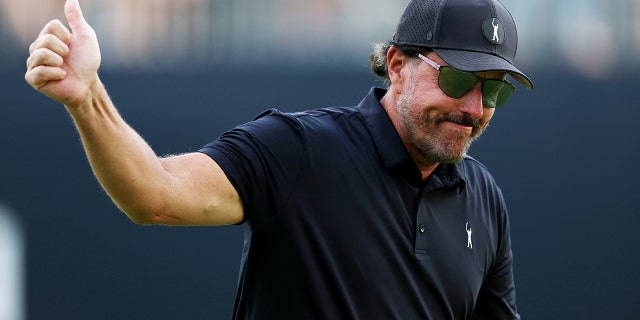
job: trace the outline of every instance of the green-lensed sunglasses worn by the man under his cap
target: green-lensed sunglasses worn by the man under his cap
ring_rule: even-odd
[[[516,89],[506,80],[483,79],[475,73],[460,71],[449,66],[441,66],[420,53],[418,53],[418,58],[440,71],[438,86],[442,92],[454,99],[462,98],[480,82],[482,84],[482,106],[496,108],[507,103]]]

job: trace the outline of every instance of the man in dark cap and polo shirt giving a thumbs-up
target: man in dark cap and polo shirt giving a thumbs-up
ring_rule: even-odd
[[[466,155],[508,100],[517,35],[496,0],[414,0],[353,108],[269,110],[158,158],[118,115],[77,0],[25,78],[65,105],[95,175],[136,223],[246,230],[236,319],[518,319],[507,210]],[[497,27],[495,27],[497,25]],[[185,101],[186,102],[186,101]]]

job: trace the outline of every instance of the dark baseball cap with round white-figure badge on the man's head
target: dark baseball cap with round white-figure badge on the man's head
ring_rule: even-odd
[[[411,0],[393,42],[432,48],[461,71],[505,71],[526,88],[533,88],[529,77],[513,65],[518,47],[516,24],[497,0]]]

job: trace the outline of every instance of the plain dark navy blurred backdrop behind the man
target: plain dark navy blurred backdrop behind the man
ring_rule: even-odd
[[[25,233],[29,319],[228,319],[243,230],[130,222],[92,176],[64,108],[0,75],[0,202]],[[101,75],[158,154],[197,150],[266,108],[355,105],[366,68]],[[639,76],[531,74],[472,147],[510,209],[523,319],[633,319]],[[286,301],[283,301],[286,303]]]

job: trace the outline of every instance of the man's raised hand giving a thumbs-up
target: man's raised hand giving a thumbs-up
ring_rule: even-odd
[[[64,6],[71,32],[59,20],[49,22],[29,47],[25,80],[68,108],[90,99],[99,83],[100,48],[78,0]]]

